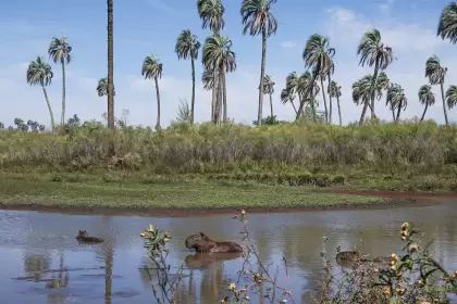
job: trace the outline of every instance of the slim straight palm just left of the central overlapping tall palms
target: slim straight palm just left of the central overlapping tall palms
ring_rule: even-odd
[[[190,104],[190,125],[194,124],[194,106],[195,106],[195,63],[198,59],[198,50],[201,45],[197,40],[197,36],[192,35],[190,29],[185,29],[177,37],[174,48],[177,59],[190,59],[192,63],[192,104]]]

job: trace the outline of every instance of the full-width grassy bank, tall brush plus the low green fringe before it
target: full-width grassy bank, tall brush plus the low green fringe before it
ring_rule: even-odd
[[[102,125],[86,124],[59,134],[0,131],[0,166],[2,178],[39,175],[64,182],[197,180],[456,191],[457,127],[433,122],[261,128],[181,124],[160,132],[123,128],[110,134]]]

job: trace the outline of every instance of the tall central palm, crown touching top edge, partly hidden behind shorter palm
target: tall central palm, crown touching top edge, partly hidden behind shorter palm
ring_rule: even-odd
[[[212,33],[219,34],[225,26],[224,12],[225,8],[221,0],[198,0],[198,15],[202,21],[201,28],[209,28]],[[215,107],[218,99],[218,71],[215,66],[210,67],[213,72],[212,101],[211,101],[211,121],[215,124]]]

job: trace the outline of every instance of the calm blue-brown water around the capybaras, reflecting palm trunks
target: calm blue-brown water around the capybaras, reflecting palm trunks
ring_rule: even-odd
[[[361,240],[365,253],[398,252],[398,227],[405,220],[434,238],[437,259],[457,269],[457,200],[440,201],[444,204],[395,210],[252,214],[249,238],[264,265],[287,261],[289,277],[281,268],[280,281],[296,303],[312,303],[309,293],[322,278],[323,249],[334,256],[338,245],[351,250]],[[150,223],[174,236],[170,259],[175,268],[185,261],[190,268],[177,292],[183,303],[220,300],[243,259],[198,261],[188,256],[184,239],[205,231],[213,239],[239,240],[240,228],[230,215],[152,218],[0,211],[0,294],[8,303],[156,303],[147,274],[138,269],[150,265],[138,236]],[[78,244],[78,229],[106,242]]]

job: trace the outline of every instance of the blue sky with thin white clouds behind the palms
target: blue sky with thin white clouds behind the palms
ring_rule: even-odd
[[[201,43],[210,35],[201,29],[196,0],[114,0],[114,87],[115,116],[129,111],[127,123],[156,124],[157,101],[152,80],[141,76],[141,64],[149,54],[163,63],[159,80],[162,126],[177,116],[180,100],[192,100],[190,61],[177,60],[174,46],[183,29],[190,29]],[[223,0],[225,28],[233,41],[236,72],[226,76],[228,117],[251,124],[257,118],[258,86],[261,62],[261,37],[243,35],[240,0]],[[275,81],[274,114],[279,119],[293,119],[289,104],[280,103],[280,92],[291,72],[305,72],[301,59],[306,40],[318,33],[326,36],[335,48],[335,73],[332,78],[342,86],[343,123],[360,117],[361,106],[351,100],[351,85],[372,67],[360,66],[357,45],[363,33],[381,31],[382,40],[394,50],[396,61],[385,71],[393,83],[402,85],[408,106],[402,117],[421,116],[423,106],[418,90],[428,83],[425,61],[436,54],[448,67],[445,89],[457,85],[457,46],[436,37],[436,27],[444,0],[346,0],[304,1],[279,0],[272,12],[279,26],[268,40],[265,73]],[[51,64],[54,77],[48,88],[55,122],[60,122],[62,77],[61,66],[49,60],[52,37],[66,36],[73,47],[73,60],[66,68],[66,118],[77,114],[83,121],[102,121],[107,99],[97,94],[97,81],[107,76],[107,1],[101,0],[16,0],[4,1],[0,10],[0,122],[12,125],[15,117],[50,125],[42,90],[26,83],[26,69],[38,55]],[[196,122],[210,119],[211,92],[202,89],[201,49],[196,64]],[[436,103],[427,118],[444,122],[439,86],[433,88]],[[318,97],[320,109],[322,96]],[[264,97],[263,113],[269,115],[269,98]],[[333,122],[337,123],[334,103]],[[385,99],[378,102],[376,113],[392,119]],[[457,109],[448,111],[456,121]]]

